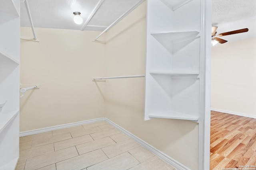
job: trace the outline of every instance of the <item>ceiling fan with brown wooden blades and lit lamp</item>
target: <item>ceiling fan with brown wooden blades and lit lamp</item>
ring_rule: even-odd
[[[221,36],[237,34],[237,33],[244,33],[244,32],[249,31],[248,28],[244,28],[244,29],[238,29],[238,30],[229,31],[229,32],[226,32],[226,33],[219,33],[219,34],[217,34],[217,31],[216,31],[217,28],[218,27],[216,27],[216,26],[212,26],[212,45],[216,45],[217,43],[223,44],[223,43],[228,42],[228,41],[226,41],[224,39],[219,38]]]

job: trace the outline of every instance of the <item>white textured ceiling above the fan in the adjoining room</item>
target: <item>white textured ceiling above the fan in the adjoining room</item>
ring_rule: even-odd
[[[256,37],[256,0],[212,0],[212,25],[218,26],[218,33],[249,29],[222,37],[227,41]]]

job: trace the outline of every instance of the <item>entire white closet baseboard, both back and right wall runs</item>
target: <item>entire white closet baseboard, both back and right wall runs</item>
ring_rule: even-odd
[[[172,165],[177,170],[190,170],[188,167],[184,166],[180,162],[174,160],[170,156],[166,155],[165,153],[161,152],[160,150],[156,149],[152,145],[146,143],[142,139],[136,137],[132,133],[128,132],[124,128],[120,127],[119,125],[117,125],[116,123],[110,121],[109,119],[107,119],[105,117],[98,118],[98,119],[87,120],[87,121],[69,123],[69,124],[64,124],[64,125],[52,126],[52,127],[42,128],[42,129],[35,129],[35,130],[31,130],[31,131],[24,131],[24,132],[20,132],[20,137],[27,136],[27,135],[34,135],[34,134],[37,134],[37,133],[43,133],[43,132],[48,132],[48,131],[55,131],[55,130],[58,130],[58,129],[64,129],[64,128],[84,125],[84,124],[88,124],[88,123],[94,123],[94,122],[98,122],[98,121],[108,122],[110,125],[116,127],[116,129],[120,130],[122,133],[124,133],[125,135],[127,135],[128,137],[133,139],[134,141],[138,142],[140,145],[142,145],[146,149],[150,150],[150,152],[152,152],[153,154],[155,154],[156,156],[158,156],[159,158],[161,158],[162,160],[164,160],[168,164]]]

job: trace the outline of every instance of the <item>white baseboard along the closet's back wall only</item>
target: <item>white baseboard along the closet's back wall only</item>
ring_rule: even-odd
[[[98,119],[91,119],[91,120],[86,120],[86,121],[68,123],[68,124],[64,124],[64,125],[46,127],[46,128],[42,128],[42,129],[35,129],[35,130],[31,130],[31,131],[24,131],[24,132],[20,132],[20,137],[34,135],[34,134],[38,134],[38,133],[44,133],[44,132],[48,132],[48,131],[55,131],[58,129],[64,129],[64,128],[84,125],[84,124],[88,124],[88,123],[94,123],[94,122],[98,122],[98,121],[105,121],[105,118],[102,117],[102,118],[98,118]]]

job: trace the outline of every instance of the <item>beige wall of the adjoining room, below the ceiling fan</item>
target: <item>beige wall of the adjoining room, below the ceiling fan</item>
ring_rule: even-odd
[[[211,108],[256,116],[256,38],[212,47]]]

